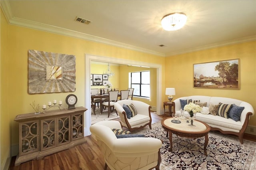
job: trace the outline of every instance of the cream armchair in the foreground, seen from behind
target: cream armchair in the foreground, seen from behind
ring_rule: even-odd
[[[112,128],[121,129],[118,121],[102,121],[90,127],[111,170],[159,170],[162,142],[156,138],[116,138]]]

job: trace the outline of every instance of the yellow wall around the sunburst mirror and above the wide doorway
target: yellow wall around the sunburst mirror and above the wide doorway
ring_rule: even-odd
[[[96,56],[115,57],[120,59],[129,59],[139,62],[156,63],[164,65],[164,57],[150,55],[130,49],[123,49],[102,43],[80,40],[42,32],[38,30],[23,28],[19,26],[8,25],[6,20],[1,15],[1,37],[2,34],[6,38],[1,38],[1,47],[7,46],[8,51],[1,52],[1,64],[6,64],[1,67],[1,118],[4,117],[4,123],[1,123],[1,158],[6,158],[6,153],[10,152],[10,148],[3,144],[8,143],[18,145],[18,123],[14,118],[18,114],[33,113],[34,110],[30,106],[32,101],[43,105],[47,101],[53,99],[65,101],[65,98],[70,93],[46,93],[46,94],[28,94],[28,50],[35,49],[38,51],[50,51],[54,53],[65,53],[76,56],[76,91],[73,92],[78,97],[76,106],[84,106],[85,103],[85,73],[84,73],[84,54]],[[7,36],[6,36],[7,35]],[[3,45],[2,45],[3,44]],[[2,66],[2,65],[1,65]],[[113,70],[114,71],[114,70]],[[2,74],[1,74],[2,75]],[[164,75],[164,68],[162,69]],[[88,77],[90,79],[90,77]],[[164,80],[161,82],[164,88]],[[118,85],[117,85],[118,86]],[[86,94],[87,95],[87,94]],[[89,94],[88,94],[89,95]],[[67,107],[66,103],[64,107]],[[41,109],[42,111],[42,109]],[[5,126],[4,126],[5,125]],[[9,125],[9,127],[8,127]],[[2,128],[4,127],[4,128]],[[2,132],[2,130],[4,131]]]

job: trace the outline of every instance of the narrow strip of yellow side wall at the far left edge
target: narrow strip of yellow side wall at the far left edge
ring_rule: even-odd
[[[10,161],[10,141],[11,141],[11,121],[9,114],[9,107],[13,107],[9,105],[12,97],[9,96],[9,81],[8,77],[10,65],[8,58],[9,47],[7,45],[8,41],[8,24],[4,17],[4,14],[0,14],[1,21],[1,54],[0,54],[0,144],[1,144],[1,164],[0,168],[4,169],[5,162]]]

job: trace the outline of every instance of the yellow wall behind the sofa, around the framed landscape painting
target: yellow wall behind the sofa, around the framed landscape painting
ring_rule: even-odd
[[[193,88],[193,64],[240,59],[240,90]],[[256,42],[240,43],[166,58],[166,87],[175,87],[174,99],[190,95],[230,97],[250,103],[256,111]],[[168,73],[168,74],[167,74]],[[256,127],[256,115],[249,125]]]

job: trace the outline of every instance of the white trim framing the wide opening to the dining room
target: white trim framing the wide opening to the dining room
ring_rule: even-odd
[[[113,57],[101,57],[96,55],[90,55],[90,54],[84,54],[85,57],[85,77],[90,77],[90,63],[91,61],[105,61],[109,63],[120,63],[120,64],[133,64],[133,65],[141,65],[146,67],[152,67],[156,68],[156,113],[160,114],[160,106],[161,106],[161,99],[162,99],[162,65],[155,64],[155,63],[145,63],[140,61],[133,61],[133,60],[127,60],[127,59],[118,59]],[[85,78],[85,107],[91,108],[91,99],[90,95],[90,78]],[[91,109],[88,109],[85,114],[85,128],[84,128],[84,136],[88,136],[91,134],[90,132],[90,125],[91,125]]]

